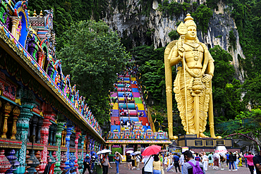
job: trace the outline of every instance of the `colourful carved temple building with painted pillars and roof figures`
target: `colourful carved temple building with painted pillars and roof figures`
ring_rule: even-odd
[[[1,1],[0,173],[82,173],[102,129],[56,58],[53,11],[30,16],[28,1]]]

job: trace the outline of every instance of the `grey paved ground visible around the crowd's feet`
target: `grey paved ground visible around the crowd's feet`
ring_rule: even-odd
[[[109,169],[109,174],[115,174],[116,173],[116,166],[114,163],[111,163],[111,167]],[[143,164],[140,165],[140,170],[128,170],[128,165],[127,163],[122,163],[119,165],[119,172],[120,174],[141,174],[141,168],[143,167]],[[175,171],[175,168],[172,168],[174,171]],[[164,170],[165,174],[166,173],[176,173],[171,171],[171,172],[166,172],[166,170]],[[238,168],[238,171],[231,171],[229,172],[229,168],[228,167],[225,167],[224,170],[220,170],[220,167],[219,167],[219,170],[213,170],[213,168],[208,168],[207,170],[207,173],[208,174],[228,174],[228,173],[235,173],[235,174],[250,174],[250,171],[248,168],[245,168],[245,167],[241,167],[241,168]]]

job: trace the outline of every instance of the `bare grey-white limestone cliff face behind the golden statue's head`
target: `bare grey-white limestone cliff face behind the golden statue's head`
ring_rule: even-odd
[[[113,4],[113,1],[109,0],[109,4]],[[205,3],[204,0],[197,1],[200,4]],[[178,3],[183,1],[176,0]],[[140,0],[126,0],[121,3],[125,3],[125,8],[119,9],[119,5],[109,5],[107,15],[103,19],[112,30],[119,32],[119,35],[128,42],[130,46],[139,46],[141,44],[153,44],[155,48],[166,46],[171,39],[168,34],[171,30],[176,30],[177,23],[183,21],[186,17],[185,13],[181,13],[179,16],[166,17],[161,11],[157,10],[159,7],[159,1],[147,1],[150,3],[150,13],[144,14],[147,9],[140,4]],[[149,4],[147,4],[149,5]],[[227,8],[224,4],[219,3],[219,10],[213,12],[213,17],[210,19],[210,24],[207,33],[204,35],[201,31],[198,31],[198,38],[200,42],[203,42],[207,47],[213,48],[215,45],[220,45],[222,49],[229,51],[233,56],[231,62],[236,69],[236,78],[243,82],[243,74],[239,70],[238,55],[241,58],[245,58],[241,45],[239,44],[238,32],[236,30],[236,24],[233,18],[225,12]],[[229,32],[233,30],[236,37],[236,48],[233,48],[229,44]]]

